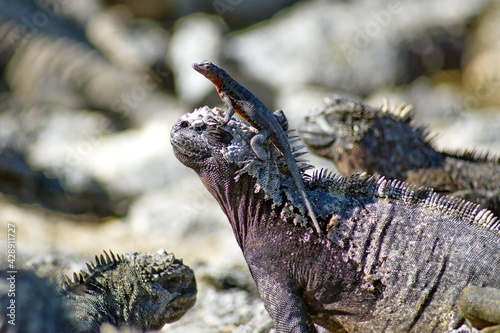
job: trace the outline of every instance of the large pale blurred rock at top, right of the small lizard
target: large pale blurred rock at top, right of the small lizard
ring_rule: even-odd
[[[401,50],[433,32],[455,40],[453,33],[441,31],[453,27],[464,33],[456,26],[464,27],[487,3],[303,2],[235,34],[225,53],[241,63],[248,75],[276,88],[315,84],[367,94],[402,78],[414,78],[415,73],[406,74],[408,61]]]

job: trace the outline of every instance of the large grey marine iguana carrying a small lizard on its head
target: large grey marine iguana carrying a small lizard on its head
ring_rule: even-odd
[[[258,132],[200,108],[173,126],[176,157],[227,216],[277,332],[447,332],[467,286],[500,288],[500,221],[479,206],[381,176],[317,172],[307,223],[283,157]],[[303,166],[300,166],[303,168]]]

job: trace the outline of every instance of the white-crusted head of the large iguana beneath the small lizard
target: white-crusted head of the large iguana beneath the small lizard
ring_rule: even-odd
[[[182,116],[172,128],[170,141],[175,156],[198,173],[226,215],[236,214],[235,207],[243,205],[237,200],[269,199],[270,208],[305,211],[283,156],[274,145],[264,143],[269,153],[265,161],[256,157],[251,143],[256,133],[253,127],[235,119],[223,124],[219,110],[205,106]],[[292,147],[294,157],[302,153],[298,149]],[[298,167],[305,170],[310,166],[298,161]],[[290,214],[306,223],[296,211]]]

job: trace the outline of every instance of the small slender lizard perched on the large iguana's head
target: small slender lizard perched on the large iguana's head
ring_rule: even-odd
[[[283,154],[285,163],[295,180],[295,185],[307,207],[312,223],[319,233],[316,214],[307,196],[302,176],[290,150],[284,130],[284,126],[287,125],[283,112],[278,110],[273,114],[255,95],[236,82],[226,71],[211,62],[205,61],[193,64],[193,68],[215,85],[220,99],[227,107],[224,123],[227,123],[236,112],[259,131],[258,135],[253,137],[251,144],[260,161],[266,161],[269,158],[267,152],[262,148],[262,144],[268,139]]]

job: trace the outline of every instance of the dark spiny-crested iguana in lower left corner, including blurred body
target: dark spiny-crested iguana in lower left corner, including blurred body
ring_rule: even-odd
[[[45,274],[59,278],[57,268],[49,267]],[[95,263],[87,264],[87,270],[67,279],[59,292],[31,272],[24,271],[17,278],[17,324],[8,325],[4,313],[2,332],[99,332],[104,323],[155,330],[180,319],[196,302],[193,271],[164,250],[125,255],[104,252]],[[0,299],[2,304],[9,301],[5,291]],[[49,311],[52,308],[58,310]],[[57,330],[47,330],[50,327]]]

